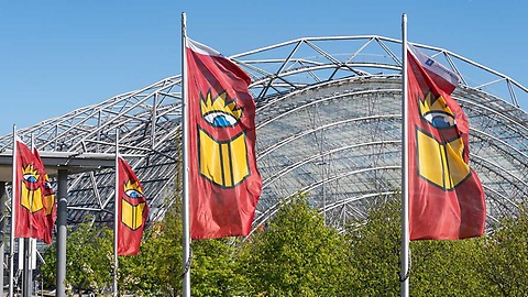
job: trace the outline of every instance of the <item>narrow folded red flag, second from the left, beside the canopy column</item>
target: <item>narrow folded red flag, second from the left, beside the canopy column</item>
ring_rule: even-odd
[[[44,242],[50,244],[52,243],[53,228],[57,218],[57,204],[55,200],[55,193],[53,191],[52,184],[50,183],[50,177],[44,169],[44,164],[42,163],[41,155],[38,154],[38,150],[36,150],[36,147],[33,147],[33,155],[35,156],[36,161],[38,161],[38,169],[43,173],[43,176],[41,177],[43,183],[42,194],[44,209],[46,210]]]

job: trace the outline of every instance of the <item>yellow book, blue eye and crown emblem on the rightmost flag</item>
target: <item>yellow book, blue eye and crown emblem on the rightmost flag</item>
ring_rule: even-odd
[[[421,117],[433,128],[431,132],[416,130],[419,176],[443,190],[452,190],[470,175],[454,114],[441,96],[433,99],[428,94],[419,106]],[[441,140],[435,136],[435,130]]]

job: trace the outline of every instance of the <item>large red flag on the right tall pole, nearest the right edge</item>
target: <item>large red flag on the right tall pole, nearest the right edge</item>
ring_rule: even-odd
[[[451,98],[458,76],[414,50],[408,56],[410,240],[484,232],[484,190],[469,166],[469,123]]]

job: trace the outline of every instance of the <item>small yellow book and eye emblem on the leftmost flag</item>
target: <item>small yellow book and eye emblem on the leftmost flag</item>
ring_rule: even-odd
[[[33,168],[33,164],[22,167],[22,175],[24,179],[21,185],[20,204],[30,212],[36,212],[43,209],[42,190],[38,183],[41,175],[37,169]]]

